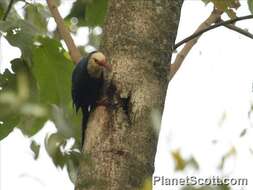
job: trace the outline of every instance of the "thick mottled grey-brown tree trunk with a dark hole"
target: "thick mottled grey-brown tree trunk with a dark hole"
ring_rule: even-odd
[[[109,0],[102,50],[111,105],[89,118],[76,190],[137,190],[152,176],[180,0]]]

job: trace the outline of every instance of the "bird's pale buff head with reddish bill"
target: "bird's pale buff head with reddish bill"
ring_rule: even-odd
[[[88,58],[88,73],[95,78],[100,78],[103,69],[111,71],[111,65],[106,62],[106,58],[103,53],[96,51],[92,52]]]

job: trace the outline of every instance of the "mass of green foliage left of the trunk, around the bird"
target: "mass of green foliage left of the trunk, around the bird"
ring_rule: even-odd
[[[0,18],[9,1],[0,2]],[[72,181],[80,157],[80,113],[75,114],[71,101],[72,61],[58,40],[56,33],[48,31],[50,13],[40,3],[23,4],[24,14],[16,12],[14,5],[7,20],[0,21],[1,37],[21,50],[21,57],[11,61],[11,70],[0,75],[0,140],[16,127],[27,137],[40,131],[45,122],[54,122],[57,132],[45,137],[45,147],[55,166],[67,167]],[[78,27],[100,26],[106,14],[107,1],[78,0],[74,3],[66,23],[78,19]],[[98,11],[96,16],[94,12]],[[98,47],[99,34],[91,30],[87,45]],[[67,146],[69,139],[74,145]],[[31,142],[34,158],[39,157],[41,145]]]

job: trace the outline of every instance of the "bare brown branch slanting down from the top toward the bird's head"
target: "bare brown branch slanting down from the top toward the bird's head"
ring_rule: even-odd
[[[48,8],[52,14],[52,16],[54,17],[55,22],[57,23],[57,28],[58,31],[60,33],[61,38],[65,41],[68,50],[69,50],[69,54],[71,59],[75,62],[78,63],[81,59],[81,53],[78,50],[78,48],[76,47],[69,30],[67,29],[67,27],[64,25],[64,21],[57,9],[56,4],[54,3],[54,0],[47,0],[47,4],[48,4]]]

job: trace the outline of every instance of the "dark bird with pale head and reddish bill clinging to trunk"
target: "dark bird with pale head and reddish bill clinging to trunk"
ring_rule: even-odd
[[[76,113],[80,108],[82,110],[81,147],[84,144],[90,112],[101,95],[105,70],[111,71],[111,65],[106,62],[105,55],[100,51],[93,51],[87,57],[82,58],[72,72],[73,105]]]

